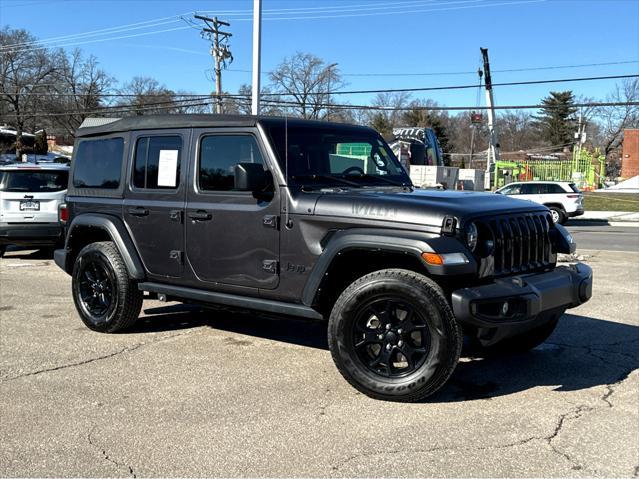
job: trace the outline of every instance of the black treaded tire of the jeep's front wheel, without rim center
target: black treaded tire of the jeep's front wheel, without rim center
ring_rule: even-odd
[[[412,315],[423,319],[420,327],[426,327],[430,335],[428,347],[423,348],[427,351],[423,364],[415,365],[406,376],[384,377],[372,372],[352,339],[357,318],[367,304],[378,300],[409,304]],[[462,335],[443,291],[434,281],[413,271],[385,269],[357,279],[339,296],[329,318],[328,344],[337,369],[353,387],[374,399],[414,402],[446,383],[459,360]]]

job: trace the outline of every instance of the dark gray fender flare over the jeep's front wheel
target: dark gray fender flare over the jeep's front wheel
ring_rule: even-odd
[[[431,275],[459,275],[477,272],[477,262],[468,249],[456,238],[429,233],[409,231],[391,231],[375,229],[351,229],[335,233],[317,258],[309,275],[302,303],[309,306],[313,303],[324,275],[335,258],[349,250],[370,250],[371,252],[390,251],[405,253],[417,258]],[[422,253],[464,253],[469,262],[461,265],[430,265],[421,257]]]

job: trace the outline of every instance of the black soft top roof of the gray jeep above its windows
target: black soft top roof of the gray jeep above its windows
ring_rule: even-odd
[[[107,118],[96,119],[107,120]],[[252,115],[211,115],[211,114],[179,114],[179,115],[144,115],[132,116],[98,125],[80,127],[76,137],[87,137],[96,135],[108,135],[131,130],[161,130],[168,128],[207,128],[207,127],[252,127],[258,123],[266,127],[284,126],[307,126],[307,127],[330,127],[342,130],[360,130],[374,132],[371,128],[344,123],[332,123],[326,121],[301,120],[299,118],[276,117],[276,116],[252,116]],[[90,124],[90,121],[88,122]]]

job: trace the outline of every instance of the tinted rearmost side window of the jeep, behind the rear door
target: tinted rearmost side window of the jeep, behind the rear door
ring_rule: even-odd
[[[75,156],[73,186],[117,189],[120,186],[123,153],[123,138],[81,141]]]

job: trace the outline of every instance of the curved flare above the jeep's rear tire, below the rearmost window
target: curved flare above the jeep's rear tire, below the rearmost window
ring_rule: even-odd
[[[137,280],[146,277],[138,251],[122,220],[116,216],[99,213],[87,213],[76,216],[69,225],[65,244],[65,250],[67,252],[70,251],[69,240],[72,238],[74,230],[79,227],[99,228],[105,231],[113,243],[115,243],[118,252],[122,256],[129,276]],[[65,270],[71,274],[70,271],[73,270],[73,265],[68,264],[69,259],[69,255],[67,255]]]

